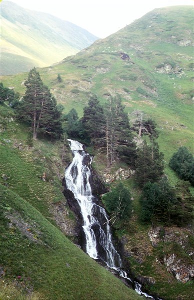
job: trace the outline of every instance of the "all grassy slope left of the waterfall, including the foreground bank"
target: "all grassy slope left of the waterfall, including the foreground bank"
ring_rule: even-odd
[[[138,300],[57,227],[53,207],[65,203],[59,144],[44,140],[28,147],[27,128],[13,120],[5,105],[0,113],[0,298],[7,298],[5,284],[10,284],[24,294],[36,291],[40,299],[120,300],[122,295]],[[43,172],[46,181],[41,180]],[[63,222],[69,219],[73,226],[73,216],[65,210]]]

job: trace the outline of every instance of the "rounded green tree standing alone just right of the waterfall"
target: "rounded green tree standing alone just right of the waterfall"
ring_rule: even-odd
[[[131,195],[129,191],[119,183],[111,192],[103,196],[107,211],[111,214],[113,222],[127,220],[131,216]]]

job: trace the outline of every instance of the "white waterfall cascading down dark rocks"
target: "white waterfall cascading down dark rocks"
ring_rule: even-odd
[[[124,279],[135,284],[135,291],[150,299],[152,297],[141,290],[141,284],[134,282],[121,269],[122,261],[112,243],[109,218],[105,209],[97,205],[92,195],[91,163],[92,156],[84,151],[84,145],[68,139],[73,152],[73,161],[65,171],[65,181],[68,190],[72,191],[77,200],[83,217],[83,231],[86,238],[86,253],[93,259],[100,259],[106,265],[117,271]]]

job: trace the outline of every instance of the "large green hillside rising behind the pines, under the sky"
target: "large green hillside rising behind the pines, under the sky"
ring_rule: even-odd
[[[82,116],[91,92],[101,103],[118,93],[131,124],[135,110],[154,119],[171,177],[172,154],[182,145],[193,152],[192,30],[193,7],[155,9],[61,63],[40,69],[40,74],[65,112],[74,107]],[[120,53],[129,58],[123,60]],[[61,83],[56,80],[58,73]],[[22,94],[26,77],[8,76],[2,81]]]

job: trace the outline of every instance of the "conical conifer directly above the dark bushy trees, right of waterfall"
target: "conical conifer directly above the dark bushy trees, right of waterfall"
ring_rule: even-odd
[[[136,160],[136,180],[143,187],[147,182],[157,182],[164,171],[164,154],[159,152],[159,145],[153,139],[151,145],[146,141],[138,151]]]

